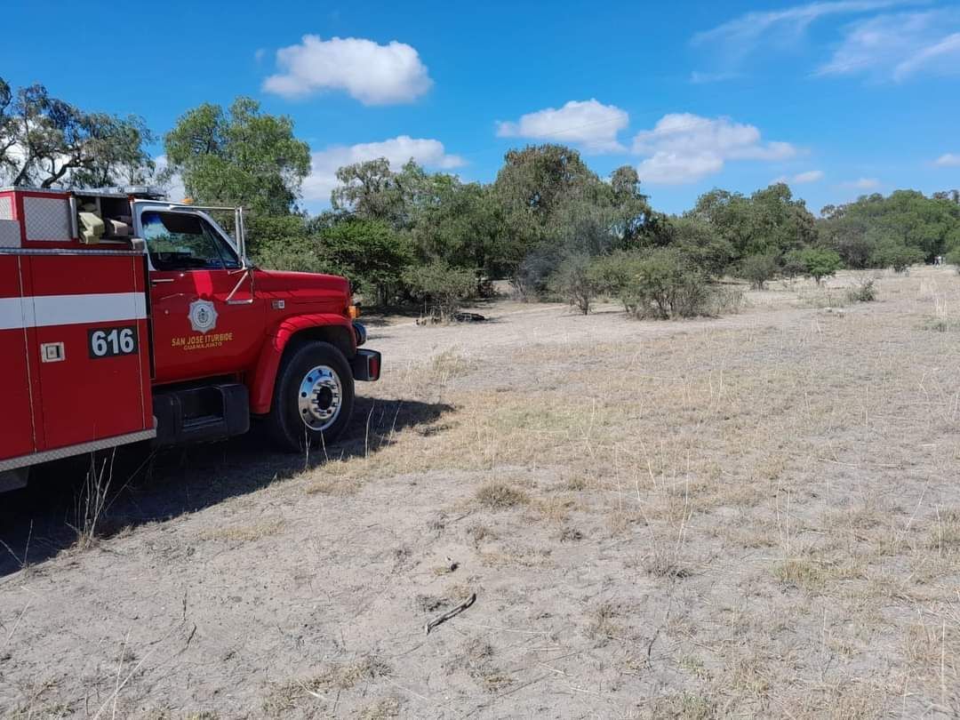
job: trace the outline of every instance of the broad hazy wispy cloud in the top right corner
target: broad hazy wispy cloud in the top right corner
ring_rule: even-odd
[[[878,15],[849,25],[818,75],[903,81],[919,72],[953,74],[960,61],[960,12]]]

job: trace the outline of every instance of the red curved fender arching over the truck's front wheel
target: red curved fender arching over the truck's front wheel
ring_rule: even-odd
[[[250,410],[266,415],[274,399],[276,372],[284,351],[300,340],[323,340],[340,348],[349,360],[356,353],[356,336],[350,319],[336,313],[315,313],[287,318],[268,333],[250,383]]]

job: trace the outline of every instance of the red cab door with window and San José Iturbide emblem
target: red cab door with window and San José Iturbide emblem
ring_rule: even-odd
[[[189,208],[146,205],[137,220],[150,255],[156,382],[252,368],[264,303],[226,233]]]

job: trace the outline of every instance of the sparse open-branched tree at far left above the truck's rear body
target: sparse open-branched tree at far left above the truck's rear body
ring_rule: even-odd
[[[140,182],[155,165],[142,118],[87,112],[41,84],[14,93],[0,78],[0,180],[12,185],[93,187]]]

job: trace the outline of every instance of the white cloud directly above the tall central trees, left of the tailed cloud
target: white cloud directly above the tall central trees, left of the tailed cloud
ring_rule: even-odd
[[[630,116],[625,110],[604,105],[595,99],[571,100],[563,108],[545,108],[521,115],[516,122],[498,122],[497,137],[554,139],[582,145],[591,153],[624,150],[616,139],[627,127]]]

